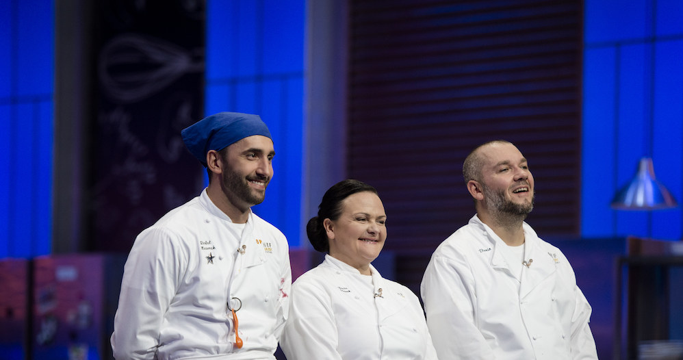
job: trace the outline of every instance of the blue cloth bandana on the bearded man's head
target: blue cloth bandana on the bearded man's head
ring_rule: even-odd
[[[270,138],[270,131],[261,117],[239,112],[219,112],[207,116],[181,131],[183,142],[190,153],[204,167],[209,150],[220,151],[248,136],[262,135]]]

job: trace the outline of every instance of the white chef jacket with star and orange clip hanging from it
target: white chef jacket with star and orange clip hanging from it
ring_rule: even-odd
[[[205,189],[138,235],[114,319],[116,359],[274,359],[292,282],[287,240],[253,213],[241,238],[235,226]],[[242,348],[229,296],[242,301]]]

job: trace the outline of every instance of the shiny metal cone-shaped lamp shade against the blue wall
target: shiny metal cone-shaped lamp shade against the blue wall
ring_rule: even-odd
[[[655,178],[654,165],[649,157],[641,159],[636,175],[612,199],[613,209],[655,210],[676,206],[675,198]]]

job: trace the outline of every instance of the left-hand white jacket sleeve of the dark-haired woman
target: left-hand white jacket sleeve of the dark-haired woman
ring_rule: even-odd
[[[289,318],[280,339],[287,360],[341,360],[338,339],[329,294],[312,283],[295,283]]]

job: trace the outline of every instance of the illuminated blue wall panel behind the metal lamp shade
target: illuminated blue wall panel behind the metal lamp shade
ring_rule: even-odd
[[[612,196],[651,156],[683,200],[683,2],[586,0],[582,236],[680,239],[681,207],[616,211]]]

